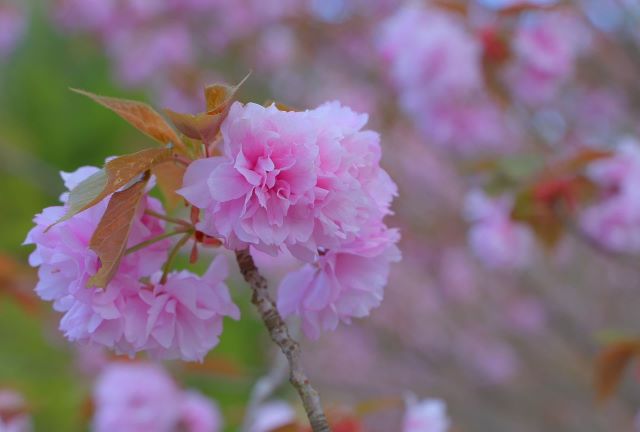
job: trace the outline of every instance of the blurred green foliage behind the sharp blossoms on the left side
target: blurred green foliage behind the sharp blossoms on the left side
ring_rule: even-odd
[[[107,156],[151,145],[68,87],[141,100],[144,95],[115,85],[95,41],[64,37],[51,26],[44,8],[33,9],[26,38],[13,55],[0,60],[0,252],[21,262],[32,249],[21,243],[33,216],[58,204],[63,190],[58,171],[101,165]],[[243,319],[225,323],[212,364],[229,364],[235,373],[222,366],[194,373],[168,364],[185,386],[220,403],[227,431],[236,430],[267,352],[261,323],[248,310],[247,292],[238,284],[232,290]],[[0,388],[23,392],[36,431],[87,430],[91,378],[76,370],[72,347],[57,332],[57,318],[30,315],[0,295]]]

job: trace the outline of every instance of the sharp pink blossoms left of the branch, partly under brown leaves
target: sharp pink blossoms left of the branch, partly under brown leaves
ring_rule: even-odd
[[[65,186],[71,190],[97,170],[83,167],[62,173]],[[65,214],[67,198],[63,194],[63,205],[46,208],[35,217],[36,226],[25,241],[36,245],[29,258],[38,267],[36,293],[63,313],[60,330],[65,336],[130,355],[148,351],[158,358],[202,359],[218,343],[222,318],[239,318],[224,283],[225,258],[217,257],[203,277],[188,271],[171,272],[160,283],[159,269],[170,246],[162,240],[127,254],[106,288],[88,287],[100,267],[89,241],[108,200],[52,226]],[[146,210],[162,212],[162,204],[145,197],[133,222],[129,246],[164,232],[164,223]]]

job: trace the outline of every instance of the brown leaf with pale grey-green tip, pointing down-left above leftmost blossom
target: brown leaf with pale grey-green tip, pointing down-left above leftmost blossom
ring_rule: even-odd
[[[110,160],[103,169],[82,181],[71,191],[67,213],[56,223],[93,207],[136,177],[158,164],[171,160],[172,157],[171,149],[151,148]]]

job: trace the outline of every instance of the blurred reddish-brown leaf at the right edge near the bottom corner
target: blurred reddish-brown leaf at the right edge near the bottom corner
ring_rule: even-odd
[[[595,388],[598,400],[611,397],[622,379],[627,366],[640,355],[640,340],[613,343],[600,353],[595,367]]]

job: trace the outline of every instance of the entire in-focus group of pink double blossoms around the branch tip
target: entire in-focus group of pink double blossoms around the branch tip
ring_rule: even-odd
[[[379,165],[379,135],[363,129],[367,118],[338,102],[302,112],[236,102],[221,126],[222,155],[192,161],[178,190],[200,214],[184,240],[197,230],[231,250],[303,262],[284,277],[278,308],[301,317],[314,339],[379,306],[390,264],[400,258],[399,234],[383,220],[396,186]],[[72,190],[97,172],[62,176]],[[202,360],[223,318],[240,317],[224,282],[225,256],[202,276],[169,271],[184,243],[170,250],[165,220],[172,219],[145,194],[115,277],[95,286],[103,263],[90,241],[110,198],[64,220],[68,200],[64,193],[62,205],[37,215],[25,241],[36,245],[36,293],[63,313],[65,336],[129,355]]]

